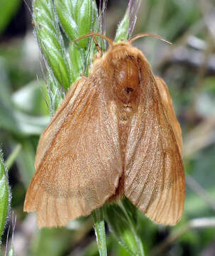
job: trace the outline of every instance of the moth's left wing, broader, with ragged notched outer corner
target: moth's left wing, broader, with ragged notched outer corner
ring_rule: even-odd
[[[38,226],[89,215],[116,191],[122,173],[115,105],[79,80],[40,137],[24,210]]]

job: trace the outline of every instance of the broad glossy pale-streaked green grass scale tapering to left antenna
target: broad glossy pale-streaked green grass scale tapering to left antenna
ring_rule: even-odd
[[[92,0],[55,0],[62,28],[71,41],[86,35],[92,29]],[[87,48],[89,38],[77,42]]]

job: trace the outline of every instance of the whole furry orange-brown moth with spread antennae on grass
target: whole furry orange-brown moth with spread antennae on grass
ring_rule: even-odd
[[[185,195],[182,132],[165,82],[131,46],[150,35],[121,43],[87,36],[109,49],[41,135],[24,210],[38,213],[40,228],[62,226],[126,196],[155,223],[175,225]]]

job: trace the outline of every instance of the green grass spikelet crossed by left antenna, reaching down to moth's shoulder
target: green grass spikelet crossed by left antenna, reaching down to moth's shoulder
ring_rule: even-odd
[[[90,31],[101,33],[101,22],[98,19],[98,10],[95,1],[66,0],[55,1],[57,15],[63,30],[70,41],[74,41]],[[99,46],[104,49],[104,42],[97,38]],[[72,73],[72,82],[79,78],[80,73],[88,75],[89,64],[96,52],[92,38],[84,38],[69,44],[69,63]]]

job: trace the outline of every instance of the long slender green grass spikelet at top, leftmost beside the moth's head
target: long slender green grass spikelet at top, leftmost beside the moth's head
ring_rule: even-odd
[[[59,82],[59,90],[70,87],[70,69],[67,63],[65,46],[57,23],[52,0],[33,1],[33,21],[38,43],[55,78]]]

